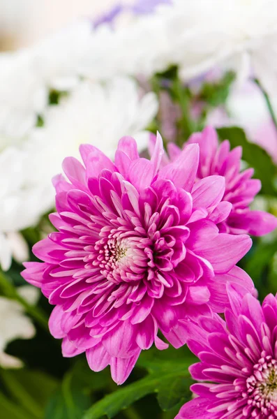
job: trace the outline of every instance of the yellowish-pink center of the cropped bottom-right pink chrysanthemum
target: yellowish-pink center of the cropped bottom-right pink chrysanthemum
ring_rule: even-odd
[[[275,418],[277,410],[277,361],[271,356],[261,358],[254,366],[253,375],[246,380],[248,405],[255,416]],[[272,416],[271,416],[272,415]]]

